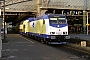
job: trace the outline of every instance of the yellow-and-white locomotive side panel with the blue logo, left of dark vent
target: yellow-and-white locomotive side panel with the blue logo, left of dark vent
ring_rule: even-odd
[[[35,20],[29,22],[29,32],[34,34],[41,34],[42,32],[42,20]]]

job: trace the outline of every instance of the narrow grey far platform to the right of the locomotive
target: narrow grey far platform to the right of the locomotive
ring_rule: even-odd
[[[70,38],[90,41],[90,34],[69,34]]]

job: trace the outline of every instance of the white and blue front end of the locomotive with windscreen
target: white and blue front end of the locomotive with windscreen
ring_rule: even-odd
[[[49,15],[49,41],[66,44],[68,36],[68,23],[65,15]]]

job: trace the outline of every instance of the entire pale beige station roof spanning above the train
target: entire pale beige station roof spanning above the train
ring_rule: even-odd
[[[86,9],[90,10],[90,0],[39,0],[39,4],[37,4],[38,0],[0,0],[0,6],[2,11],[4,1],[5,12],[37,12],[37,5],[40,5],[41,9],[49,8],[83,10],[85,7]],[[15,14],[15,16],[11,18],[18,18],[18,16],[16,15],[17,14]],[[10,20],[10,18],[8,20]]]

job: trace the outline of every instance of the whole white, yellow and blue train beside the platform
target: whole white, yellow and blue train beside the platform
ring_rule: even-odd
[[[46,44],[66,44],[70,39],[67,19],[62,14],[30,17],[20,23],[20,34],[33,37]]]

